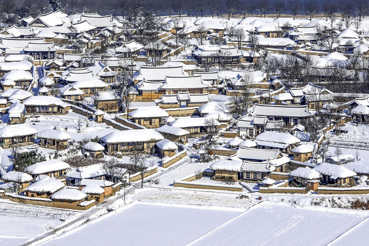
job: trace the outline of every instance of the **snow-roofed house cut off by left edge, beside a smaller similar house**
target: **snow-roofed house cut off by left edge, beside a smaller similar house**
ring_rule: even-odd
[[[27,125],[10,125],[0,129],[0,145],[11,147],[14,143],[22,145],[32,144],[37,130]]]

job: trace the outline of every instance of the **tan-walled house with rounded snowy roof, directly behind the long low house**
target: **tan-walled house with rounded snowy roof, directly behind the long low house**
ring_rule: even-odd
[[[158,106],[140,107],[128,113],[133,122],[145,127],[158,127],[169,114]]]

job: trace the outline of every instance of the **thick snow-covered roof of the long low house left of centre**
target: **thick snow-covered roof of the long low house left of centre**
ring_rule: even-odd
[[[103,136],[101,140],[107,143],[118,143],[159,141],[162,139],[164,139],[163,135],[161,135],[154,129],[134,129],[125,131],[114,131]]]

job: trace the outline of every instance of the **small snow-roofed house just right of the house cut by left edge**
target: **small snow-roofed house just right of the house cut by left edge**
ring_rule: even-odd
[[[72,137],[65,131],[46,129],[37,133],[40,139],[40,145],[51,149],[65,150],[68,146],[68,140]]]

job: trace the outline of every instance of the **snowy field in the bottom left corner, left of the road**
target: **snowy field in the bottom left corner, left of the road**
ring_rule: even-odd
[[[0,245],[18,245],[44,231],[60,225],[61,221],[37,217],[0,215]]]

